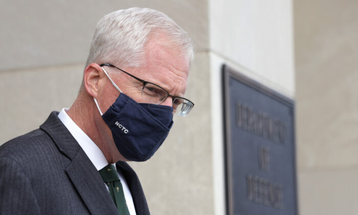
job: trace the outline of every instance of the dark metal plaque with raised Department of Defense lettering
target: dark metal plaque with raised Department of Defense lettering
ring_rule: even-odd
[[[227,213],[297,214],[293,100],[222,71]]]

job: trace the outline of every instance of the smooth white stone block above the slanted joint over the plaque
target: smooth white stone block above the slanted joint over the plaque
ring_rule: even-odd
[[[211,52],[241,73],[295,95],[292,1],[210,1]]]

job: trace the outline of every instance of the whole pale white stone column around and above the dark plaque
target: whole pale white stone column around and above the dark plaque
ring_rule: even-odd
[[[215,214],[225,214],[223,63],[288,98],[295,95],[292,1],[209,1]],[[245,190],[243,190],[244,192]]]

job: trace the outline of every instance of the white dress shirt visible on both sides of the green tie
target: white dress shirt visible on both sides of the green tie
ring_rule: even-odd
[[[66,111],[69,109],[63,108],[58,114],[58,118],[62,121],[64,126],[70,131],[71,135],[75,138],[84,153],[87,155],[89,160],[93,163],[97,170],[102,169],[108,165],[107,159],[104,157],[101,149],[89,138],[78,125],[67,115]],[[116,165],[111,164],[116,168]],[[117,169],[117,168],[116,168]],[[120,171],[117,171],[119,179],[121,180],[124,197],[127,202],[128,210],[130,215],[136,215],[136,209],[134,207],[132,195],[130,193],[128,184]],[[103,182],[104,183],[104,182]],[[106,185],[107,187],[107,185]],[[107,187],[108,189],[108,187]]]

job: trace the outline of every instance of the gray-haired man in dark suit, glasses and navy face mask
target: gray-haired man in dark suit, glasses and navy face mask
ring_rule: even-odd
[[[191,110],[192,57],[187,33],[161,12],[104,16],[71,108],[0,147],[0,214],[149,214],[125,161],[149,159],[173,114]]]

